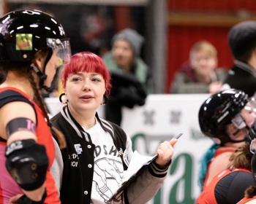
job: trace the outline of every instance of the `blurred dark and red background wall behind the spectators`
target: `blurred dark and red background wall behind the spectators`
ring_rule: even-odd
[[[154,14],[157,13],[156,5],[160,0],[148,0],[148,6],[93,6],[71,4],[71,2],[70,4],[10,2],[4,5],[4,11],[35,7],[52,12],[61,21],[67,36],[70,37],[73,53],[89,50],[103,55],[110,49],[110,39],[113,34],[123,28],[134,28],[146,37],[141,57],[153,70],[156,87],[159,87],[156,93],[169,93],[174,74],[179,66],[189,59],[190,47],[203,39],[217,47],[219,67],[229,69],[233,58],[227,44],[227,32],[238,22],[256,20],[255,0],[166,0],[165,60],[160,58],[163,54],[159,54],[152,45],[154,43],[150,42],[150,40],[156,41],[156,37],[148,37],[158,34],[158,31],[155,31],[157,23],[154,22]],[[150,6],[151,4],[153,6]],[[162,12],[162,15],[166,15],[166,12]],[[153,59],[156,63],[152,62]],[[166,62],[161,63],[162,61]]]

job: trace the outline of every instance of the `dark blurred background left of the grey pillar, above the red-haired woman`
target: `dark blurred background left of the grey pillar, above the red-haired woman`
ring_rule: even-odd
[[[123,28],[134,28],[144,36],[144,8],[72,4],[71,1],[69,4],[8,4],[8,12],[15,9],[39,9],[50,13],[64,27],[73,54],[86,50],[97,55],[103,55],[110,49],[113,35]]]

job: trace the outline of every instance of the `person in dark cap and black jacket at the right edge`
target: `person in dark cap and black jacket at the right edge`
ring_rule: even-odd
[[[252,96],[256,91],[256,21],[236,24],[227,39],[235,61],[222,89],[231,87]]]

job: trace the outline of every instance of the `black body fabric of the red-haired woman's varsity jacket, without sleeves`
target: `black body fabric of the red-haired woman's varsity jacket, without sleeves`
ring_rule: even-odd
[[[70,116],[71,117],[71,116]],[[100,124],[102,125],[102,121],[100,121],[99,117],[96,116]],[[67,122],[66,119],[61,115],[61,113],[56,114],[52,119],[50,119],[53,127],[56,127],[58,130],[61,130],[64,133],[67,142],[67,148],[61,149],[62,159],[64,162],[64,170],[62,176],[62,184],[61,184],[61,203],[69,204],[84,204],[91,202],[91,187],[92,187],[92,178],[94,174],[94,149],[95,145],[91,143],[91,140],[86,141],[85,138],[81,138],[78,136],[78,133],[72,127],[72,125]],[[75,121],[74,121],[75,122]],[[109,122],[110,123],[110,122]],[[80,131],[80,125],[78,122],[75,122],[75,125],[78,125],[78,129]],[[127,136],[124,131],[121,130],[121,127],[110,123],[114,130],[113,142],[116,145],[116,149],[126,149],[126,141]],[[105,131],[105,128],[102,125],[102,128]],[[83,129],[83,128],[82,128]],[[55,133],[53,133],[55,136]],[[75,150],[74,144],[80,144],[80,149],[83,149],[83,152],[79,154]],[[89,148],[90,146],[90,148]],[[122,160],[123,161],[123,160]],[[72,168],[72,164],[76,165],[76,168]],[[91,164],[92,167],[88,168],[88,165]],[[127,166],[124,164],[124,170],[127,170]]]

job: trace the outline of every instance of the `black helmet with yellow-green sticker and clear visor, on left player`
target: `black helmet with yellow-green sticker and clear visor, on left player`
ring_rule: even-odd
[[[56,54],[60,63],[67,63],[70,57],[69,40],[61,24],[54,17],[39,10],[16,10],[0,18],[0,63],[28,62],[36,52],[58,48]],[[51,50],[51,49],[52,50]],[[53,52],[49,52],[45,66]],[[46,79],[45,66],[42,72],[31,64],[40,77],[40,85]]]

